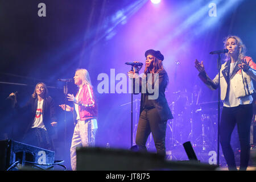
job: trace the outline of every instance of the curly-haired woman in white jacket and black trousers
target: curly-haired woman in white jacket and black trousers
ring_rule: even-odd
[[[230,145],[234,127],[237,125],[241,146],[240,170],[246,170],[250,158],[250,125],[253,117],[253,80],[256,80],[256,64],[245,56],[245,45],[238,36],[228,36],[224,41],[228,49],[225,63],[220,69],[221,113],[220,143],[229,170],[237,170],[234,152]],[[195,67],[200,79],[210,88],[218,88],[218,74],[211,80],[205,72],[203,61],[196,60]]]

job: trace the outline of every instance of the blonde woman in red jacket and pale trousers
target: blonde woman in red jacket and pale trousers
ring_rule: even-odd
[[[68,94],[67,98],[72,101],[74,107],[69,105],[60,105],[66,111],[72,111],[76,114],[76,125],[71,143],[71,167],[76,170],[76,148],[93,147],[97,131],[97,106],[93,93],[93,87],[90,82],[90,76],[86,69],[77,69],[74,76],[75,84],[79,91],[76,96]]]

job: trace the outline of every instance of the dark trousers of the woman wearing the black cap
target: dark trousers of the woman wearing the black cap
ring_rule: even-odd
[[[139,117],[135,140],[138,150],[147,151],[147,138],[152,133],[157,154],[166,155],[166,126],[167,121],[161,121],[155,108],[144,109]]]

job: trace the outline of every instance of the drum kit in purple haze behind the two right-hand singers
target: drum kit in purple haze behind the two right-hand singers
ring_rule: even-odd
[[[200,92],[173,93],[175,100],[169,102],[169,107],[174,119],[167,121],[166,151],[184,150],[183,143],[188,141],[200,151],[216,150],[218,101],[199,103]],[[152,134],[146,146],[148,150],[155,150]]]

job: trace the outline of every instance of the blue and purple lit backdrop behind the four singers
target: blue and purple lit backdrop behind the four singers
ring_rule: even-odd
[[[73,78],[77,68],[85,68],[98,104],[96,145],[130,148],[131,94],[127,93],[125,77],[130,67],[125,63],[144,63],[144,52],[156,49],[164,55],[164,68],[170,78],[166,97],[175,113],[175,140],[191,140],[200,153],[201,124],[206,122],[208,146],[212,146],[209,150],[216,151],[216,135],[209,134],[216,133],[218,92],[199,80],[194,61],[203,60],[213,78],[217,74],[217,56],[209,52],[223,49],[223,40],[230,34],[240,36],[247,55],[256,59],[255,7],[254,0],[162,0],[157,5],[147,0],[0,0],[1,139],[20,140],[19,126],[26,118],[26,114],[17,116],[11,110],[6,97],[17,91],[19,104],[23,105],[36,83],[45,82],[55,100],[59,122],[56,158],[65,160],[69,167],[73,117],[67,113],[65,125],[64,111],[59,107],[65,101],[64,82],[57,79]],[[98,88],[102,81],[106,81],[109,93],[101,93]],[[123,92],[119,93],[118,88]],[[69,82],[68,93],[75,94],[76,90]],[[135,133],[140,95],[133,99]],[[199,105],[202,103],[206,104]],[[200,113],[200,109],[208,110]],[[195,110],[198,112],[192,117],[191,111]],[[189,138],[191,121],[194,138]],[[171,150],[171,121],[168,123],[166,144]],[[152,141],[148,146],[154,150]],[[234,147],[238,147],[236,143]],[[180,152],[183,158],[177,157]],[[180,152],[176,159],[187,160],[184,150]]]

